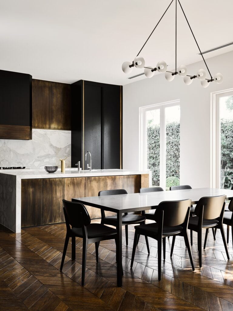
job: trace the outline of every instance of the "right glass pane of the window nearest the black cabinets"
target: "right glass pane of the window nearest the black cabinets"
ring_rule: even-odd
[[[180,106],[165,108],[166,190],[180,184]]]

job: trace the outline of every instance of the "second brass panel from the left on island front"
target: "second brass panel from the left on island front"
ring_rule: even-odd
[[[62,199],[65,197],[65,178],[45,178],[42,180],[42,223],[64,222]]]

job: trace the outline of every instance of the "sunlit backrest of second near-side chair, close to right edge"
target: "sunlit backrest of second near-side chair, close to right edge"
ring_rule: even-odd
[[[220,217],[223,206],[225,206],[226,195],[216,197],[202,197],[198,201],[194,213],[200,216],[202,207],[203,219],[216,219]]]

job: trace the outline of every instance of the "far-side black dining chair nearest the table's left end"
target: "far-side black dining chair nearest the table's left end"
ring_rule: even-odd
[[[115,190],[102,190],[99,191],[98,196],[106,196],[106,195],[118,195],[118,194],[127,194],[125,189],[115,189]],[[128,245],[128,225],[135,225],[135,224],[145,224],[146,217],[141,215],[135,214],[128,214],[125,213],[122,216],[122,225],[125,226],[126,230],[126,245]],[[114,227],[117,226],[117,216],[105,216],[104,210],[101,210],[101,224],[105,225],[112,225]],[[146,239],[146,246],[148,254],[150,253],[149,243],[147,237]]]

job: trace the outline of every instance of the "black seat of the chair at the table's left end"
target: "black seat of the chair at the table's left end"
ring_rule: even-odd
[[[82,228],[72,228],[71,231],[76,236],[80,238],[83,237]],[[89,239],[116,233],[117,233],[116,229],[101,224],[90,224],[89,226],[87,226],[87,236]]]

